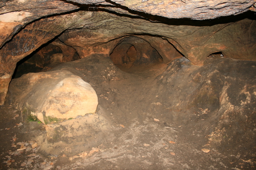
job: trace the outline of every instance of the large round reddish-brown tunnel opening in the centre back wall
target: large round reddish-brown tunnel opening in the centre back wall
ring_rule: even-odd
[[[110,59],[122,71],[135,74],[164,66],[158,51],[135,36],[122,39],[110,54]]]

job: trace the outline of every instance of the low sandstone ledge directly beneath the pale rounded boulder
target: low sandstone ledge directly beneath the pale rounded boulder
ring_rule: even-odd
[[[48,142],[58,143],[61,138],[61,141],[69,144],[70,147],[70,144],[77,145],[79,143],[81,145],[88,143],[88,139],[95,140],[95,137],[99,137],[100,134],[93,132],[101,133],[106,130],[107,124],[103,117],[97,114],[87,114],[84,117],[77,117],[56,124],[47,124],[45,129]]]

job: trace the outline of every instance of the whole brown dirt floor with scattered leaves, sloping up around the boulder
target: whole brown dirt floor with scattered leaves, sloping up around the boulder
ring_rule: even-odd
[[[57,69],[92,85],[96,113],[49,125],[65,127],[52,138],[1,106],[0,169],[256,169],[255,62],[180,58],[130,74],[96,55]]]

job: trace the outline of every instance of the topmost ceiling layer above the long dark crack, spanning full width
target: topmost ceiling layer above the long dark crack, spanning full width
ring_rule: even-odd
[[[0,2],[0,47],[10,40],[23,26],[43,16],[60,14],[80,7],[99,8],[118,13],[137,15],[145,13],[166,18],[213,19],[256,11],[255,0],[20,0]],[[154,17],[150,17],[154,18]]]

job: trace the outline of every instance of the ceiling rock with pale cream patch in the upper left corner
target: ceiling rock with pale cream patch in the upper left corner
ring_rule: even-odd
[[[0,39],[0,47],[8,40],[12,39],[12,36],[29,22],[43,16],[78,9],[76,5],[56,0],[37,0],[36,2],[30,0],[1,1],[0,7],[0,22],[4,22],[5,25],[8,25],[8,29],[1,29],[0,31],[0,35],[2,35],[8,30],[8,34],[5,34],[5,36]]]

